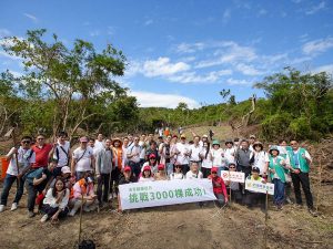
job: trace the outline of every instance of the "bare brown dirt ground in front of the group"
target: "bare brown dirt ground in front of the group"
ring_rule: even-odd
[[[268,248],[333,248],[332,186],[325,186],[321,215],[312,217],[305,208],[287,205],[269,210]],[[10,195],[13,196],[13,193]],[[79,236],[79,215],[53,226],[41,224],[41,215],[27,217],[21,207],[0,214],[0,248],[74,248]],[[11,204],[11,199],[9,200]],[[83,238],[98,248],[263,248],[264,212],[238,204],[218,209],[212,203],[145,208],[119,215],[109,209],[83,214]]]

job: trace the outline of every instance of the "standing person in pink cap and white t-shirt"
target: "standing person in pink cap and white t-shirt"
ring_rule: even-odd
[[[71,163],[72,176],[80,180],[84,177],[87,172],[91,172],[94,166],[94,156],[92,148],[88,147],[88,138],[82,136],[80,138],[80,146],[74,149]]]

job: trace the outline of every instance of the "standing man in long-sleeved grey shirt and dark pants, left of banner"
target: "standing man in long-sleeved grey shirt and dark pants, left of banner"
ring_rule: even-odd
[[[113,152],[111,149],[111,141],[107,139],[104,147],[95,154],[95,176],[98,179],[97,195],[99,206],[109,201],[110,177],[112,170]]]

